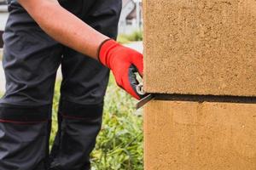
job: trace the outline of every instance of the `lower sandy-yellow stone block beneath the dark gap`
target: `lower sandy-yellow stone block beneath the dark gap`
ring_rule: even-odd
[[[256,105],[152,101],[145,170],[255,170]]]

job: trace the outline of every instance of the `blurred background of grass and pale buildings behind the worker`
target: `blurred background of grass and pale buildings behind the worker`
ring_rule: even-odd
[[[143,52],[142,0],[122,0],[118,42]],[[8,19],[7,4],[0,0],[0,96],[4,94],[3,30]],[[56,111],[60,97],[61,71],[55,83],[53,126],[50,144],[57,131]],[[35,92],[36,93],[36,92]],[[105,98],[102,131],[91,155],[92,170],[143,170],[143,118],[136,111],[137,101],[119,89],[113,76]]]

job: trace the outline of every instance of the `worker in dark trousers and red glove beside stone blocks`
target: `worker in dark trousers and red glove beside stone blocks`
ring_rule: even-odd
[[[9,0],[3,34],[1,170],[88,170],[102,125],[109,69],[136,99],[143,55],[114,39],[122,0]],[[56,71],[58,132],[49,151]]]

